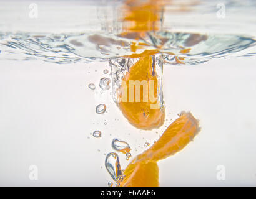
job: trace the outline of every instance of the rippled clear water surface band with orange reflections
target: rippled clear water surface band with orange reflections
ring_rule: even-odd
[[[91,37],[96,39],[92,40]],[[89,32],[57,35],[0,32],[0,39],[1,59],[38,59],[59,64],[104,61],[132,55],[130,43],[134,42],[134,39],[116,34]],[[104,42],[101,43],[102,40]],[[161,43],[162,40],[165,41],[164,44]],[[122,42],[126,45],[122,46]],[[136,42],[147,44],[136,53],[154,50],[161,45],[160,52],[164,54],[164,61],[170,65],[195,65],[212,58],[255,55],[255,40],[252,35],[149,32]],[[180,53],[184,48],[190,48],[190,51]],[[182,63],[175,59],[179,56],[182,57]]]

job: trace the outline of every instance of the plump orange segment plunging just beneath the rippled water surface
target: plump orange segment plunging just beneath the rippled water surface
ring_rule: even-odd
[[[165,111],[158,97],[160,82],[153,59],[151,55],[141,57],[130,68],[119,95],[119,108],[129,123],[139,129],[154,129],[164,123]]]

